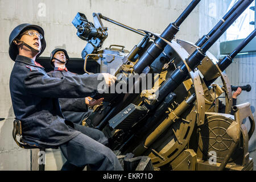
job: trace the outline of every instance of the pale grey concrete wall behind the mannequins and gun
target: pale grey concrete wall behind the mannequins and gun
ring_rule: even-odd
[[[42,56],[49,56],[53,48],[66,48],[70,57],[80,57],[86,42],[76,35],[71,21],[77,12],[93,22],[92,13],[102,13],[127,26],[160,34],[187,7],[191,0],[0,0],[0,170],[30,170],[30,151],[22,150],[13,141],[13,109],[9,92],[9,77],[13,61],[9,58],[9,35],[20,23],[42,26],[47,47]],[[180,26],[177,38],[196,42],[225,14],[228,0],[204,0]],[[44,11],[45,10],[45,11]],[[102,20],[109,28],[104,47],[121,44],[131,50],[141,36]],[[218,43],[210,49],[218,56]],[[47,151],[50,159],[46,169],[60,169],[64,162],[60,151]],[[54,160],[55,159],[55,162]]]

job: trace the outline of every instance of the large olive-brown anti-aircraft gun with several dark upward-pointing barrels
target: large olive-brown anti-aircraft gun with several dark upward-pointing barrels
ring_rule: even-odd
[[[110,148],[118,155],[148,156],[155,170],[251,170],[248,143],[255,127],[254,118],[249,103],[232,107],[232,88],[223,71],[256,32],[220,61],[208,49],[253,1],[238,1],[195,44],[175,42],[180,24],[199,2],[192,1],[160,35],[131,28],[144,37],[118,60],[114,74],[121,73],[117,84],[132,85],[126,91],[134,91],[139,85],[139,92],[95,96],[106,100],[94,108],[86,123],[108,133],[112,138]],[[97,17],[109,20],[101,14]],[[93,58],[98,61],[98,47],[94,48]],[[129,82],[134,73],[143,73],[146,82],[152,78],[149,89],[141,87],[143,77]],[[150,74],[158,75],[148,78]],[[222,87],[214,84],[218,77]],[[214,102],[222,93],[226,98],[225,114],[218,113]],[[245,118],[251,124],[249,131],[242,124]]]

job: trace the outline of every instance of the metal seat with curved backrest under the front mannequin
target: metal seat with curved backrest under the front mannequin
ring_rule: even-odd
[[[16,136],[20,137],[19,142],[16,138]],[[21,148],[26,148],[26,149],[32,149],[32,148],[39,148],[40,154],[41,151],[46,152],[46,148],[58,148],[57,146],[42,146],[36,143],[31,143],[31,142],[25,142],[24,139],[22,139],[22,125],[21,122],[18,119],[14,119],[13,122],[13,139],[15,140],[16,144],[18,144],[19,147]],[[43,161],[46,161],[46,156],[43,155]],[[39,163],[39,171],[44,171],[44,162],[42,164]]]

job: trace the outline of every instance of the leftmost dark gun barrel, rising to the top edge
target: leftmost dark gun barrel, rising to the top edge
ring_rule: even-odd
[[[160,35],[162,38],[171,41],[174,39],[174,36],[179,31],[180,24],[187,18],[187,16],[195,9],[196,5],[201,0],[193,0],[188,7],[183,11],[183,13],[177,18],[174,23],[169,24],[169,26],[162,32]],[[164,42],[162,39],[157,38],[155,43],[152,44],[147,51],[142,55],[141,59],[138,63],[134,66],[135,73],[142,73],[143,69],[146,68],[148,65],[152,63],[163,52],[164,47],[166,47],[167,43]]]

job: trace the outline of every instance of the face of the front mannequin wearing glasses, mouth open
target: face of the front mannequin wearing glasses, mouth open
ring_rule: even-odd
[[[20,41],[23,41],[24,43],[28,44],[32,48],[40,51],[42,48],[41,40],[39,38],[39,32],[36,30],[27,30],[23,32],[22,37],[20,38]],[[26,47],[26,46],[23,46]],[[28,49],[27,47],[24,49]]]

